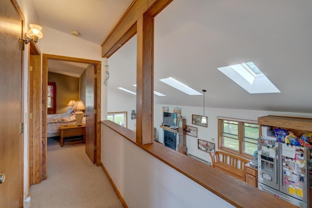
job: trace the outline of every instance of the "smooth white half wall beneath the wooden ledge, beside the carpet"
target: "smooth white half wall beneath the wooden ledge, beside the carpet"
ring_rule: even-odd
[[[101,132],[102,163],[129,208],[233,207],[107,126]]]

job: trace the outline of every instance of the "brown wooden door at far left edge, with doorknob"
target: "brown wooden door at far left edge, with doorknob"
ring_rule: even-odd
[[[22,203],[22,138],[20,123],[23,19],[10,0],[0,6],[0,207],[18,208]],[[20,10],[19,10],[20,11]],[[21,198],[21,199],[20,199]]]

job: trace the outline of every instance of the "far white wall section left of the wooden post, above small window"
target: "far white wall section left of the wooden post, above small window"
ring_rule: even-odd
[[[128,129],[136,130],[137,119],[131,119],[131,110],[137,109],[137,98],[135,95],[125,95],[117,90],[108,90],[107,93],[107,112],[127,112]],[[103,119],[107,120],[107,118]]]

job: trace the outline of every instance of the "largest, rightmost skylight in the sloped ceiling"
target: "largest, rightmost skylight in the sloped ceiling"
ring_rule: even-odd
[[[250,94],[280,93],[253,62],[220,67],[218,70]]]

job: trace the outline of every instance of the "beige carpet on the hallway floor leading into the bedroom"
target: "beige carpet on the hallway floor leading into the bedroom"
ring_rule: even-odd
[[[84,144],[60,147],[48,138],[47,179],[30,188],[31,208],[123,208],[101,167]]]

